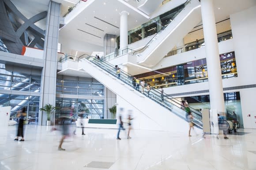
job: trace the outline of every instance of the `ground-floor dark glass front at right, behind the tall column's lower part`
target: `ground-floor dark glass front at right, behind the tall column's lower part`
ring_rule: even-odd
[[[189,103],[189,106],[191,106],[196,110],[211,109],[209,95],[185,97],[184,100],[187,100]],[[225,101],[225,109],[226,109],[226,119],[233,120],[232,113],[235,112],[237,114],[237,120],[240,123],[240,127],[244,128],[240,93],[239,92],[224,93],[224,101]]]

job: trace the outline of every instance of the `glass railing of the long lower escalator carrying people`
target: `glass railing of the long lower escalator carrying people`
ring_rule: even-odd
[[[111,65],[109,62],[106,62],[104,60],[97,60],[93,56],[89,56],[85,58],[87,54],[84,54],[79,57],[79,60],[83,58],[83,60],[88,60],[94,65],[98,66],[99,68],[105,70],[108,72],[110,75],[116,77],[117,76],[117,69],[115,68],[114,65]],[[181,105],[181,101],[178,101],[175,98],[172,98],[168,94],[163,94],[159,89],[156,88],[150,88],[150,90],[147,90],[147,84],[145,84],[145,87],[142,87],[138,84],[134,87],[133,82],[132,82],[133,76],[128,74],[127,72],[124,72],[124,70],[121,70],[120,72],[120,78],[119,80],[122,81],[123,83],[127,84],[130,87],[133,87],[135,90],[137,90],[140,94],[143,94],[144,96],[150,98],[151,100],[157,102],[159,105],[162,105],[166,109],[169,109],[171,112],[176,114],[177,116],[181,117],[184,120],[187,120],[187,112],[184,111],[184,106]],[[136,88],[136,87],[139,88]],[[195,124],[196,127],[199,127],[200,129],[203,128],[203,123],[202,123],[202,114],[198,112],[197,110],[189,107],[190,111],[192,112],[192,122]]]

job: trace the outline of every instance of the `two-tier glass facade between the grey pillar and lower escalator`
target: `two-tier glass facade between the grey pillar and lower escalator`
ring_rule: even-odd
[[[59,75],[56,94],[62,94],[56,97],[56,120],[68,117],[75,121],[81,112],[90,119],[104,119],[104,86],[97,80]]]

